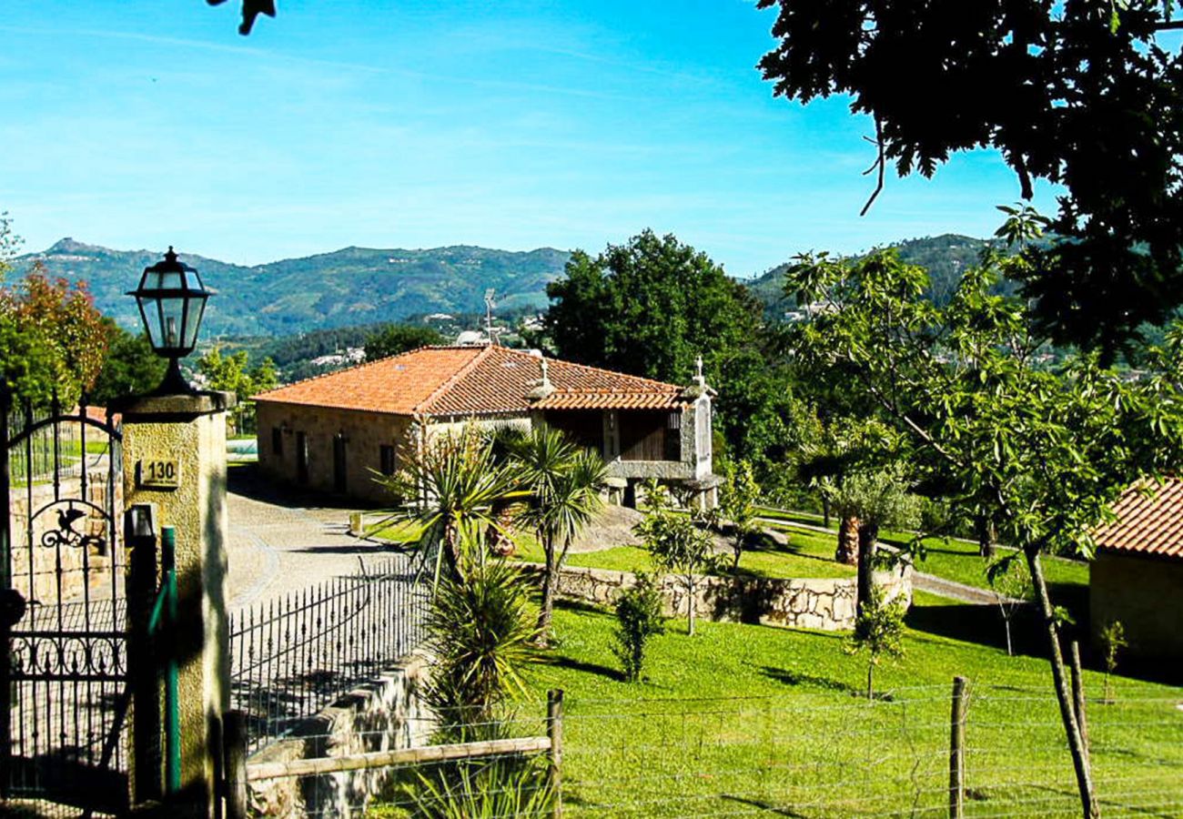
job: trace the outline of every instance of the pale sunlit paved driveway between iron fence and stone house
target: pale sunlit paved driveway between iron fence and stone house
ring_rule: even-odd
[[[353,508],[282,491],[253,465],[231,469],[226,499],[231,611],[355,574],[393,554],[348,534]]]

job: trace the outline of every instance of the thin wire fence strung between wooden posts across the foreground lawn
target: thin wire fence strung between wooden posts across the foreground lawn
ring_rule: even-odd
[[[568,696],[562,813],[950,815],[950,702],[949,686],[838,703],[810,695]],[[483,728],[503,737],[545,736],[544,714],[541,703],[523,704]],[[1108,703],[1090,701],[1087,716],[1101,814],[1183,817],[1183,695],[1118,694]],[[551,815],[547,762],[538,750],[392,765],[373,799],[367,798],[373,788],[344,774],[310,775],[299,786],[310,800],[308,815],[315,817]],[[971,685],[962,783],[965,817],[1079,817],[1055,699],[1047,691]]]

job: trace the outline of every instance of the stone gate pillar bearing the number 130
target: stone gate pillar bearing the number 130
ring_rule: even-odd
[[[124,503],[154,504],[157,535],[161,527],[175,531],[177,621],[153,640],[151,652],[157,668],[170,659],[179,665],[180,792],[166,798],[179,817],[215,814],[221,716],[230,708],[226,411],[233,405],[232,394],[195,393],[121,407]],[[161,775],[132,770],[134,780]]]

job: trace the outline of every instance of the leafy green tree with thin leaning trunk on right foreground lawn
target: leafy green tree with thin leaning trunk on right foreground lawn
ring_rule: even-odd
[[[1036,231],[1023,214],[1011,239]],[[1047,637],[1055,695],[1085,815],[1097,801],[1068,690],[1041,556],[1088,556],[1091,533],[1136,479],[1175,469],[1183,457],[1183,330],[1146,354],[1138,380],[1101,367],[1097,355],[1059,372],[1034,365],[1043,344],[1028,302],[996,295],[1000,272],[1024,257],[988,256],[967,271],[943,308],[923,297],[925,272],[890,251],[859,262],[806,257],[789,284],[829,307],[796,329],[795,350],[826,378],[840,363],[906,436],[916,460],[940,472],[953,503],[989,509],[1000,535],[1027,563]]]

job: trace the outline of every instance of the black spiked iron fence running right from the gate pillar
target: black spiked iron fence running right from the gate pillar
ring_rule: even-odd
[[[259,604],[231,617],[231,698],[254,752],[421,641],[428,591],[407,557]]]

